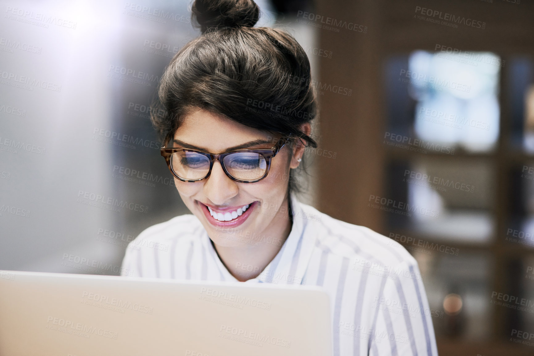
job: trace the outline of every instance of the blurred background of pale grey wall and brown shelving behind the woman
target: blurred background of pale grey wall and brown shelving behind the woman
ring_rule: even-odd
[[[441,355],[534,354],[532,3],[257,3],[318,90],[301,200],[418,260]],[[117,275],[189,213],[148,106],[190,1],[0,4],[0,269]]]

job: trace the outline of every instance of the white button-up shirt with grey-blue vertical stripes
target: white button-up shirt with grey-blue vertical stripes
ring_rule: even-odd
[[[294,195],[290,199],[287,240],[265,270],[244,283],[324,287],[332,302],[335,356],[437,356],[431,320],[436,312],[429,309],[415,259],[386,236],[329,217]],[[191,214],[140,233],[122,266],[133,276],[237,281]]]

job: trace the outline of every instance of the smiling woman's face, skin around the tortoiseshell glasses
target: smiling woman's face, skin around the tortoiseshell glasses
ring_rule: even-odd
[[[184,117],[175,132],[174,147],[218,154],[256,140],[263,140],[264,143],[238,148],[272,148],[277,139],[263,131],[198,109]],[[289,145],[286,145],[272,157],[267,177],[255,183],[240,183],[230,179],[217,160],[207,179],[184,182],[175,178],[176,188],[187,208],[199,218],[215,244],[240,246],[247,236],[277,231],[277,225],[288,224],[287,210],[284,214],[278,213],[278,217],[275,215],[282,206],[287,208],[289,168],[298,166],[296,159],[300,153],[296,152],[298,156],[290,160]],[[242,209],[247,206],[246,210]],[[230,216],[232,219],[219,221],[211,215],[208,207],[219,218],[226,216],[227,219]],[[236,231],[240,232],[239,239],[235,236]]]

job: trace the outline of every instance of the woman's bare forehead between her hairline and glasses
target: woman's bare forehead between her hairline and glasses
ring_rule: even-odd
[[[190,145],[205,147],[210,152],[223,152],[229,147],[249,141],[270,140],[271,136],[224,116],[198,109],[184,116],[174,138]]]

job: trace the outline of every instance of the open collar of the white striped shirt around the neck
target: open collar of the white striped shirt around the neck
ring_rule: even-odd
[[[305,284],[304,274],[311,258],[313,246],[315,246],[315,234],[309,233],[310,221],[307,220],[301,203],[294,194],[289,195],[290,208],[293,216],[293,225],[289,236],[282,245],[278,254],[256,278],[249,279],[246,283],[275,283],[275,284]],[[304,233],[307,231],[307,233]],[[237,281],[226,269],[219,259],[208,234],[202,234],[205,247],[209,249],[209,255],[215,259],[215,263],[224,275],[226,281]]]

